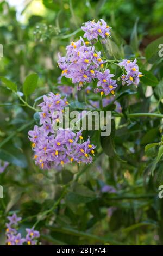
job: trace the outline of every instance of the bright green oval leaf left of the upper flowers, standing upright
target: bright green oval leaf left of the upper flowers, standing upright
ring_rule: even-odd
[[[23,93],[27,97],[34,92],[37,87],[39,76],[36,73],[30,74],[26,77],[23,83]]]

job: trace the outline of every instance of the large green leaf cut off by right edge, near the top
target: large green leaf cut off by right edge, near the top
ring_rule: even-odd
[[[163,36],[151,42],[145,50],[146,58],[149,63],[154,63],[157,59],[160,59],[159,56],[159,45],[163,42]]]

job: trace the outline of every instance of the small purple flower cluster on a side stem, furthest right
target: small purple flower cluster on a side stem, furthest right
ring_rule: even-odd
[[[128,59],[123,59],[118,65],[122,66],[124,69],[124,74],[122,74],[122,85],[127,84],[135,84],[137,86],[140,82],[140,77],[142,77],[142,73],[139,72],[139,67],[136,64],[136,59],[131,62]]]

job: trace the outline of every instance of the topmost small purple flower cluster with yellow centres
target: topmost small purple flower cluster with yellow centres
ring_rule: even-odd
[[[98,39],[98,36],[102,39],[108,38],[110,36],[110,27],[106,24],[106,22],[101,19],[97,23],[95,20],[88,21],[83,23],[84,26],[82,26],[82,30],[84,33],[84,38],[87,38],[89,41],[93,39]],[[104,40],[103,42],[106,42]]]

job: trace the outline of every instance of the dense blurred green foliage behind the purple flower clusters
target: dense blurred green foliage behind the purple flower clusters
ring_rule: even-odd
[[[34,8],[35,2],[40,2],[40,9]],[[43,244],[163,244],[163,199],[158,198],[163,184],[163,65],[158,56],[162,11],[161,0],[42,0],[28,1],[20,19],[7,1],[1,1],[0,159],[10,163],[0,174],[1,244],[6,216],[12,211],[23,218],[21,230],[37,223]],[[23,99],[35,107],[43,94],[58,92],[57,53],[64,54],[70,40],[83,35],[82,22],[99,18],[112,27],[114,56],[136,56],[145,76],[137,89],[118,90],[123,114],[112,120],[110,137],[100,138],[99,131],[84,133],[98,146],[90,166],[42,171],[33,162],[28,139],[37,114],[15,92],[23,92]],[[115,66],[109,68],[118,74]],[[71,99],[72,108],[84,104]],[[134,115],[149,112],[153,116]],[[156,144],[146,147],[150,143]],[[102,192],[104,185],[117,192]]]

